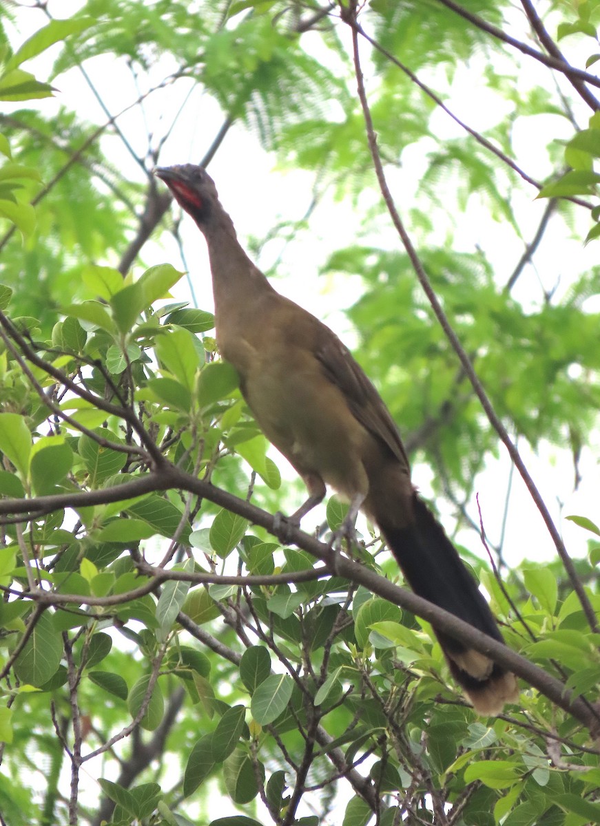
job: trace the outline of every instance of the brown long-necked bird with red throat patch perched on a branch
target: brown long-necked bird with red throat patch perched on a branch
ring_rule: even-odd
[[[221,207],[212,178],[193,164],[156,169],[208,244],[221,355],[265,436],[304,480],[299,520],[331,485],[379,526],[419,596],[494,639],[502,635],[460,556],[412,487],[407,455],[379,393],[331,330],[280,296],[255,267]],[[517,681],[434,626],[456,681],[480,714],[517,700]]]

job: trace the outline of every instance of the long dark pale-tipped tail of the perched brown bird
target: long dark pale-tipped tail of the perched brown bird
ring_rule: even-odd
[[[413,495],[412,506],[415,516],[412,525],[388,528],[379,522],[412,590],[503,642],[488,603],[440,523],[417,494]],[[434,630],[450,672],[479,714],[499,714],[505,703],[517,701],[514,674],[445,634],[440,626],[434,625]]]

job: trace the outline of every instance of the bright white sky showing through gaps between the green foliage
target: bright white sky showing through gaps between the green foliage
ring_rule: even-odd
[[[2,0],[0,0],[2,2]],[[57,17],[69,17],[77,8],[83,5],[79,0],[56,0],[49,2],[50,13]],[[23,10],[19,13],[18,24],[20,32],[15,36],[14,43],[19,44],[26,36],[45,25],[46,18],[42,12]],[[366,18],[365,21],[366,22]],[[316,41],[314,38],[313,41]],[[561,43],[561,47],[563,44]],[[60,48],[60,45],[57,49]],[[565,50],[568,42],[564,41]],[[366,50],[364,50],[366,54]],[[364,59],[365,80],[369,92],[368,61]],[[47,55],[38,60],[30,61],[25,68],[40,76],[46,77],[48,71]],[[112,113],[118,112],[128,103],[136,99],[138,92],[134,84],[129,83],[131,74],[125,69],[124,63],[115,64],[112,57],[99,57],[86,64],[88,74],[98,88],[105,102],[111,107]],[[550,75],[546,69],[532,60],[526,62],[527,72],[531,74],[531,83],[549,83]],[[153,79],[164,77],[164,65],[155,72]],[[467,77],[469,75],[469,77]],[[455,77],[455,95],[450,93],[447,101],[450,109],[473,126],[475,129],[485,129],[491,123],[497,122],[502,116],[497,109],[489,106],[489,93],[485,88],[473,86],[469,78],[473,77],[473,67],[460,69]],[[466,81],[466,82],[465,82]],[[35,102],[34,106],[41,112],[55,110],[58,105],[79,112],[80,118],[86,118],[98,124],[103,123],[106,117],[100,107],[94,102],[88,86],[76,70],[55,78],[53,85],[58,88],[55,100]],[[435,84],[434,84],[435,85]],[[469,94],[465,96],[464,90]],[[179,90],[179,91],[178,91]],[[157,126],[157,135],[166,128],[178,111],[183,98],[183,84],[180,87],[169,88],[162,93],[155,93],[146,104],[146,116]],[[187,91],[187,88],[185,89]],[[160,118],[160,123],[159,123]],[[585,116],[580,119],[580,125],[585,126]],[[207,95],[202,95],[198,89],[193,92],[185,114],[182,116],[169,141],[164,146],[160,157],[160,165],[186,163],[198,161],[207,147],[212,143],[222,122],[222,113],[217,105]],[[572,135],[572,128],[564,120],[564,138]],[[536,116],[521,118],[517,123],[517,157],[522,169],[533,177],[544,178],[550,173],[540,163],[542,155],[537,151],[538,145],[545,143],[545,135],[556,135],[561,121],[550,116]],[[140,118],[140,113],[133,110],[119,120],[121,129],[140,154],[144,154],[146,145],[146,127]],[[436,112],[432,120],[440,140],[461,135],[456,126],[444,112]],[[126,154],[118,139],[110,138],[103,141],[105,150],[116,164],[126,164],[131,169],[131,157]],[[400,172],[390,178],[393,194],[398,196],[397,205],[402,214],[402,207],[407,205],[409,192],[416,192],[420,176],[419,164],[422,158],[417,157],[419,147],[411,146],[402,155],[403,167]],[[261,149],[255,135],[248,133],[242,126],[234,126],[226,136],[226,140],[218,150],[215,159],[210,165],[210,173],[217,182],[221,201],[236,224],[238,235],[242,243],[249,235],[261,238],[269,228],[280,218],[297,220],[307,211],[312,200],[311,173],[302,170],[281,172],[276,168],[273,155]],[[400,197],[402,193],[402,197]],[[275,286],[280,292],[298,301],[321,319],[326,320],[333,330],[346,343],[355,343],[355,335],[348,320],[343,315],[345,307],[350,306],[360,296],[361,282],[359,278],[333,277],[323,278],[319,275],[319,268],[328,254],[334,249],[351,243],[355,234],[360,230],[362,208],[368,209],[373,202],[373,192],[365,193],[364,204],[359,201],[358,210],[350,202],[334,203],[330,197],[321,200],[310,221],[310,231],[302,233],[302,245],[284,245],[272,240],[264,247],[260,264],[268,268],[279,258],[279,276]],[[521,217],[521,231],[526,240],[534,235],[541,213],[545,209],[545,201],[534,202],[535,192],[531,196],[521,197],[517,210]],[[461,219],[461,225],[456,233],[457,249],[472,251],[476,245],[483,247],[490,259],[495,263],[498,273],[498,282],[507,281],[518,259],[523,252],[522,245],[515,239],[512,227],[491,221],[484,210],[478,210],[477,199],[474,198],[469,206],[469,213]],[[582,221],[588,221],[583,216]],[[382,222],[383,223],[383,222]],[[529,266],[521,274],[513,295],[518,300],[536,302],[540,300],[540,282],[549,289],[560,279],[560,291],[568,286],[569,273],[579,273],[585,267],[592,266],[598,261],[600,242],[593,242],[588,248],[583,248],[579,240],[568,237],[564,225],[558,222],[550,229],[550,233],[563,233],[560,244],[552,243],[551,239],[542,241],[535,257],[535,270]],[[399,248],[399,240],[391,227],[383,226],[378,242],[388,244],[390,248]],[[198,298],[198,306],[202,309],[212,309],[212,292],[210,274],[204,242],[187,217],[182,226],[183,244],[190,270],[190,278]],[[583,224],[582,234],[585,234]],[[432,238],[432,243],[438,243],[444,238],[444,229],[440,229],[440,238]],[[146,244],[143,250],[145,263],[161,263],[169,261],[175,267],[180,267],[179,250],[174,240],[164,234],[158,243]],[[102,262],[98,263],[115,263]],[[139,272],[141,269],[138,268]],[[539,281],[538,281],[539,279]],[[188,287],[185,281],[180,282],[177,297],[189,300]],[[591,307],[590,307],[591,308]],[[597,309],[596,306],[593,309]],[[402,358],[402,354],[398,354]],[[368,365],[366,365],[368,372]],[[492,399],[493,401],[493,399]],[[402,421],[398,422],[402,431]],[[579,490],[573,491],[574,468],[568,452],[546,446],[540,455],[532,455],[531,451],[520,445],[521,452],[527,466],[544,497],[546,505],[564,534],[569,553],[580,556],[587,551],[587,540],[590,534],[564,521],[561,516],[569,514],[587,515],[592,520],[598,520],[598,433],[594,434],[593,444],[583,450],[579,470],[583,481]],[[509,476],[509,460],[506,450],[499,447],[500,458],[490,459],[485,472],[478,478],[476,490],[479,492],[479,501],[483,509],[483,519],[492,542],[498,540],[502,524],[502,510],[504,507]],[[285,462],[279,454],[274,455],[280,468]],[[285,472],[284,478],[292,479],[293,471]],[[413,471],[414,481],[427,494],[431,469],[417,465]],[[451,529],[453,514],[451,506],[442,505],[442,520],[446,528]],[[477,518],[475,506],[469,507],[469,512]],[[317,518],[314,519],[317,522]],[[311,523],[312,524],[312,523]],[[470,530],[464,530],[459,541],[476,553],[483,554],[476,535]],[[507,533],[504,542],[504,557],[509,564],[515,564],[522,558],[531,560],[547,560],[555,557],[554,544],[550,539],[536,507],[531,501],[526,488],[517,473],[514,474],[510,508],[507,519]],[[93,774],[93,769],[88,765]]]

